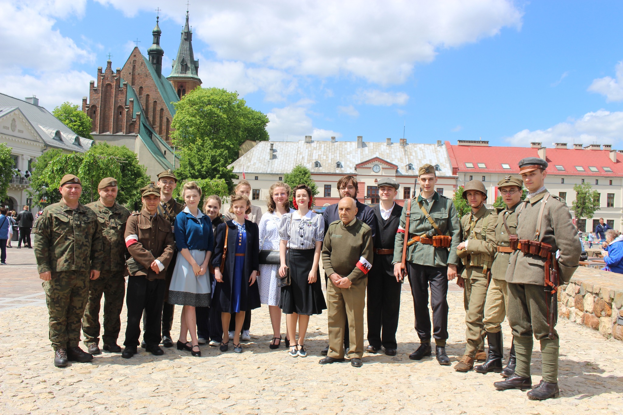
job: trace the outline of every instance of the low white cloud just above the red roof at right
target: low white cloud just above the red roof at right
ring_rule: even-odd
[[[583,144],[615,144],[623,137],[623,111],[599,110],[586,113],[580,119],[558,123],[542,130],[525,129],[506,138],[514,146],[528,146],[530,142],[541,142],[549,146],[554,142],[576,142]]]

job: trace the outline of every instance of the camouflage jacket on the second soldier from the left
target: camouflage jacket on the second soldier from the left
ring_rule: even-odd
[[[89,203],[88,208],[97,214],[102,232],[102,253],[106,259],[102,271],[123,271],[128,249],[125,248],[125,224],[130,211],[119,203],[105,206],[101,200]]]

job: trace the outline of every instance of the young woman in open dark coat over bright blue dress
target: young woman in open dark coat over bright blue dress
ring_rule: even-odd
[[[221,352],[229,348],[229,320],[231,313],[235,313],[235,327],[233,335],[234,352],[242,353],[240,346],[240,330],[244,321],[245,312],[260,307],[260,292],[255,284],[259,268],[259,230],[257,224],[244,217],[251,212],[249,198],[242,195],[232,195],[229,212],[234,213],[235,219],[216,228],[216,249],[214,249],[214,277],[216,289],[214,302],[221,310],[223,338]],[[224,269],[221,261],[225,252]]]

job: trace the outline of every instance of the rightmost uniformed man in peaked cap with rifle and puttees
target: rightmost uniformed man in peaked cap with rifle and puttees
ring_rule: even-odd
[[[548,162],[538,157],[527,157],[519,162],[521,179],[529,193],[517,208],[521,249],[511,254],[506,271],[506,313],[513,330],[517,365],[514,375],[493,384],[499,390],[531,388],[534,335],[541,343],[543,380],[528,392],[528,398],[539,400],[559,394],[559,340],[554,329],[558,317],[556,271],[560,284],[569,282],[578,268],[581,253],[578,230],[573,226],[569,208],[545,189],[547,166]],[[559,251],[558,261],[556,251]]]

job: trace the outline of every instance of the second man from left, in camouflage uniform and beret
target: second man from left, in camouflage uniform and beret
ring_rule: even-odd
[[[107,177],[97,186],[100,198],[89,203],[93,212],[97,213],[102,234],[103,257],[107,260],[102,265],[102,273],[98,279],[91,281],[88,289],[87,309],[82,318],[82,333],[88,352],[92,355],[100,353],[100,302],[104,296],[104,335],[103,350],[121,352],[117,345],[121,329],[121,309],[125,296],[125,223],[130,211],[115,202],[117,198],[117,179]]]

